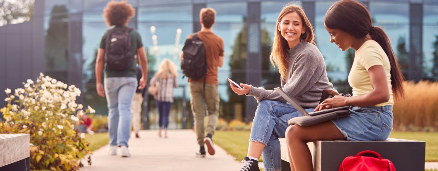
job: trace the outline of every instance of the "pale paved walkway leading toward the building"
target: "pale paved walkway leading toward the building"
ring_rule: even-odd
[[[236,171],[239,161],[215,146],[216,154],[196,157],[199,150],[196,135],[191,129],[169,130],[169,138],[159,138],[157,130],[141,130],[140,139],[131,138],[131,157],[109,156],[108,145],[93,152],[92,165],[81,171]],[[131,136],[134,137],[134,136]],[[213,137],[214,140],[214,137]]]

